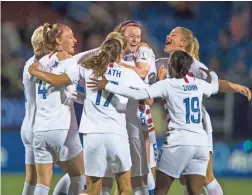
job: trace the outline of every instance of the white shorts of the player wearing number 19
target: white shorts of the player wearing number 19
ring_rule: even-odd
[[[203,146],[162,147],[157,159],[157,170],[174,178],[180,175],[206,176],[209,148]]]

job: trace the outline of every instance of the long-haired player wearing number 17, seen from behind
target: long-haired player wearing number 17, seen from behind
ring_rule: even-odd
[[[85,69],[82,70],[81,78],[87,82],[90,77],[99,77],[106,72],[105,76],[111,82],[126,85],[136,83],[134,80],[128,81],[132,74],[136,75],[134,71],[115,63],[121,60],[123,49],[124,37],[120,33],[111,33],[101,46],[100,53],[83,62]],[[69,84],[69,77],[66,74],[56,76],[43,74],[48,81],[55,78],[55,83],[58,81],[60,85]],[[127,99],[117,95],[86,89],[79,131],[84,133],[88,194],[99,194],[102,178],[112,177],[112,173],[116,175],[119,192],[123,194],[131,192],[131,157],[125,121],[127,102]]]

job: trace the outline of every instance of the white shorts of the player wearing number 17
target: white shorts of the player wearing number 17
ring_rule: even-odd
[[[129,139],[111,133],[83,135],[85,175],[114,177],[131,169]]]

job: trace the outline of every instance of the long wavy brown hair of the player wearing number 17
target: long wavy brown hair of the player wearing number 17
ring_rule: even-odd
[[[125,38],[121,33],[110,33],[101,46],[98,55],[84,60],[82,66],[92,69],[95,77],[103,76],[109,63],[115,62],[125,49]]]

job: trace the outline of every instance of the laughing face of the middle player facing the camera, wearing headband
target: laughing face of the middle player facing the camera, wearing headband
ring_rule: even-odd
[[[126,50],[128,52],[136,51],[141,41],[141,29],[137,26],[129,26],[125,29],[124,36],[126,39]]]

